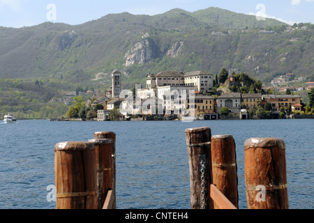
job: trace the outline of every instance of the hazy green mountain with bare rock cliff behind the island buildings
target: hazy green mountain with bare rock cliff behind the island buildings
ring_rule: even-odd
[[[131,89],[144,84],[149,70],[227,68],[263,81],[291,72],[313,79],[314,25],[289,26],[298,28],[290,32],[287,26],[220,8],[195,13],[176,8],[154,16],[110,14],[76,26],[0,27],[0,78],[94,82],[105,88],[108,74],[118,69],[124,88]]]

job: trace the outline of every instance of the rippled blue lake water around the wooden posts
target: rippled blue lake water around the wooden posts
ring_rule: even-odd
[[[0,121],[1,122],[1,121]],[[278,137],[285,141],[291,209],[314,208],[314,120],[50,122],[0,125],[0,208],[54,209],[47,201],[54,185],[54,146],[87,141],[94,132],[117,134],[117,208],[190,209],[184,130],[208,126],[212,135],[232,134],[237,146],[239,208],[247,208],[244,141]]]

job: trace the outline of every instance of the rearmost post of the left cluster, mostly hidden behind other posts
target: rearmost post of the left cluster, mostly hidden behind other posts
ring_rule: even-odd
[[[95,132],[94,139],[110,139],[112,146],[112,196],[114,197],[113,209],[117,208],[116,202],[116,133]]]

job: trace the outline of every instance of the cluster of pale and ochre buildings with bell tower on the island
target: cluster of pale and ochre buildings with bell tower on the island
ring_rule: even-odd
[[[215,75],[201,70],[149,72],[145,88],[139,84],[133,91],[122,89],[119,70],[112,71],[111,79],[110,89],[84,102],[91,107],[100,105],[93,121],[294,118],[304,107],[301,96],[295,94],[218,91],[215,95]],[[237,85],[234,72],[227,76],[227,82]]]

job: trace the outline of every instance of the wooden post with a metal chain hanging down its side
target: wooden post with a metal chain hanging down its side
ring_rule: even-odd
[[[211,185],[211,129],[185,130],[190,168],[190,204],[192,209],[213,209]]]

